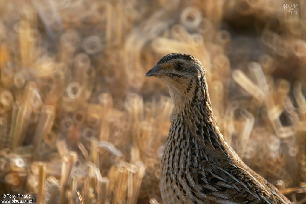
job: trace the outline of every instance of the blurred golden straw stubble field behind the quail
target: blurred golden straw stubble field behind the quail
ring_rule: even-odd
[[[162,204],[172,101],[144,75],[184,52],[206,69],[226,141],[305,203],[305,4],[0,0],[0,193]]]

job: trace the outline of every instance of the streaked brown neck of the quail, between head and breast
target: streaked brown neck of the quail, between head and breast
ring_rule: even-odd
[[[232,154],[231,149],[223,139],[212,112],[207,85],[199,80],[185,96],[179,98],[171,95],[174,101],[174,118],[169,142],[185,140],[193,147],[211,153],[218,151],[229,157]]]

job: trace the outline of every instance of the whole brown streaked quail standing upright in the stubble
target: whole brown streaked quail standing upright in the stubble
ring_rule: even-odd
[[[145,76],[162,80],[174,103],[160,166],[164,204],[290,203],[224,140],[199,60],[183,53],[168,54]]]

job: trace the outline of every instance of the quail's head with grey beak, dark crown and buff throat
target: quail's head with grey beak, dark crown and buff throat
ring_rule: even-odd
[[[190,102],[195,94],[199,95],[196,97],[205,95],[207,89],[203,65],[195,57],[184,53],[167,54],[145,76],[162,80],[174,104]]]

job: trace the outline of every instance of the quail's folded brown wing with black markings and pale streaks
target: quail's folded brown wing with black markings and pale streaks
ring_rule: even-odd
[[[205,199],[210,203],[290,203],[287,198],[279,195],[273,185],[261,176],[253,176],[251,173],[237,166],[227,169],[217,167],[206,174],[198,173],[195,179],[200,184],[200,193],[207,195]]]

